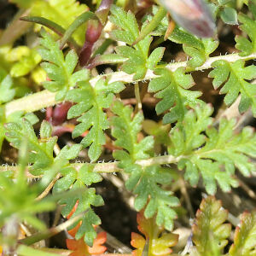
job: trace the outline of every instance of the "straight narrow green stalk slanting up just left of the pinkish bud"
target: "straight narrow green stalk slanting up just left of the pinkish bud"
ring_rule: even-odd
[[[157,13],[154,15],[153,19],[148,23],[147,26],[143,28],[138,38],[135,40],[135,42],[132,44],[137,44],[139,41],[143,40],[150,32],[154,31],[154,28],[159,26],[160,21],[163,20],[163,18],[166,16],[166,9],[163,7],[160,7],[158,9]]]

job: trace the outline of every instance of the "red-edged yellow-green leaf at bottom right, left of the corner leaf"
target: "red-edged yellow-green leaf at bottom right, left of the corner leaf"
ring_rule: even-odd
[[[224,224],[227,218],[228,212],[213,196],[201,201],[192,226],[192,240],[197,252],[195,255],[212,256],[222,253],[231,231],[231,224]]]

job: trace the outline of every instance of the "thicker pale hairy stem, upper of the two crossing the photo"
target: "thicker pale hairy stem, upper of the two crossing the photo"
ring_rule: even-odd
[[[201,67],[195,67],[194,69],[192,67],[188,67],[188,61],[181,61],[181,62],[175,62],[175,63],[169,63],[166,68],[170,69],[171,71],[175,71],[178,67],[185,67],[187,72],[191,72],[193,70],[205,70],[212,67],[212,63],[214,61],[229,61],[229,62],[235,62],[238,60],[252,60],[256,59],[256,53],[252,55],[247,56],[240,56],[238,54],[230,54],[230,55],[220,55],[209,58]],[[148,72],[145,75],[145,78],[143,80],[148,79],[154,79],[157,76],[154,75],[152,70],[148,69]],[[93,79],[90,79],[90,84],[92,86],[95,86],[96,82],[101,78],[107,78],[109,83],[113,83],[116,81],[121,81],[124,83],[137,83],[139,80],[134,81],[133,74],[127,74],[125,72],[114,72],[109,73],[106,75],[99,75],[96,76]],[[42,90],[40,92],[34,93],[29,96],[22,97],[18,100],[9,102],[5,105],[5,114],[6,116],[9,116],[9,114],[14,113],[15,111],[22,110],[26,113],[38,111],[42,108],[47,108],[50,106],[54,106],[59,102],[55,101],[55,93],[50,92],[49,90]]]

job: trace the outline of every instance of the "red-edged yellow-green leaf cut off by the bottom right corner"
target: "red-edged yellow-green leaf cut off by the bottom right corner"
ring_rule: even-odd
[[[256,212],[244,212],[241,224],[236,227],[234,243],[230,247],[230,256],[253,256],[256,254]]]

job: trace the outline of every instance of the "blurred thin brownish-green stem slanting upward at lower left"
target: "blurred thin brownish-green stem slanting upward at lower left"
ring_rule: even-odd
[[[38,232],[38,233],[36,233],[32,236],[28,236],[24,239],[21,239],[19,242],[30,246],[35,242],[47,239],[51,236],[55,236],[56,234],[60,233],[61,231],[66,230],[70,225],[79,221],[79,219],[81,219],[84,216],[84,214],[88,211],[89,210],[81,212],[81,213],[79,213],[79,215],[68,219],[66,222],[64,222],[64,223],[62,223],[62,224],[60,224],[60,225],[58,225],[54,228],[51,228],[49,230],[45,230],[45,231],[42,231],[42,232]]]

